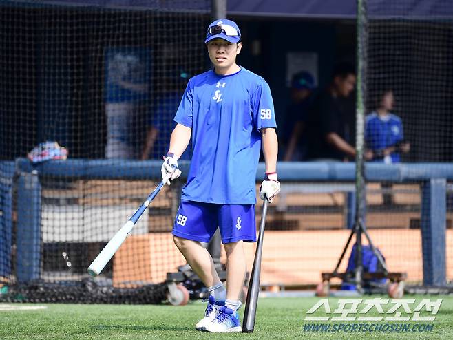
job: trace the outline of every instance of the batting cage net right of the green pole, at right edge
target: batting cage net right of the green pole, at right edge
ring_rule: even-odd
[[[363,151],[368,170],[388,164],[399,174],[364,173],[364,224],[388,270],[451,287],[453,187],[437,171],[453,160],[452,3],[384,2],[359,1]]]

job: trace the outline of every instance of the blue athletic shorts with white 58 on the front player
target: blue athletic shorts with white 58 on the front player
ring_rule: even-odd
[[[256,242],[255,204],[213,204],[181,200],[173,235],[209,242],[220,227],[222,243]]]

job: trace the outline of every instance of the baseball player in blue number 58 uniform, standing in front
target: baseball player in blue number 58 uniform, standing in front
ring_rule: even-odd
[[[180,176],[178,158],[189,142],[193,155],[173,225],[173,239],[210,296],[197,330],[240,332],[239,296],[246,275],[243,242],[256,241],[255,176],[263,150],[266,176],[260,198],[272,202],[277,180],[277,134],[271,90],[236,63],[242,42],[234,21],[219,19],[207,37],[213,70],[189,80],[162,164],[162,178]],[[169,184],[169,182],[168,182]],[[227,253],[227,290],[200,242],[220,228]]]

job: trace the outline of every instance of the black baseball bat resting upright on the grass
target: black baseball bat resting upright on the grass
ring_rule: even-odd
[[[256,308],[258,304],[258,295],[260,294],[260,274],[261,274],[261,257],[263,252],[264,226],[266,224],[267,198],[264,199],[263,209],[261,212],[260,235],[255,250],[255,260],[253,261],[252,273],[249,280],[249,289],[247,290],[247,300],[245,304],[244,320],[242,321],[242,332],[250,333],[255,328]]]

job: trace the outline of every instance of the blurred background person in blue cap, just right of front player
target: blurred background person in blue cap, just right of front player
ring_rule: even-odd
[[[291,81],[291,104],[286,109],[286,128],[284,138],[288,144],[284,153],[284,161],[304,160],[306,138],[304,129],[310,106],[310,96],[315,89],[315,79],[306,71],[294,74]]]

